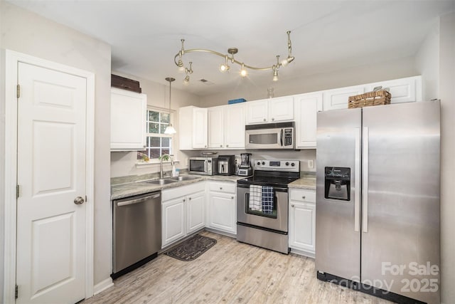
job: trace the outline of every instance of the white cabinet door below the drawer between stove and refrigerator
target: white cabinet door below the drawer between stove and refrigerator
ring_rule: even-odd
[[[289,202],[289,247],[314,256],[316,204]]]

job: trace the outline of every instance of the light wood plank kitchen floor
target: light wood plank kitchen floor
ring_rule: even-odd
[[[201,234],[218,243],[196,260],[161,254],[81,303],[390,303],[317,280],[313,258]]]

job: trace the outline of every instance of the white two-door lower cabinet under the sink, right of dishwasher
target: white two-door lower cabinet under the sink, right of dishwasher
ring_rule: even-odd
[[[205,225],[205,182],[161,191],[161,248]]]

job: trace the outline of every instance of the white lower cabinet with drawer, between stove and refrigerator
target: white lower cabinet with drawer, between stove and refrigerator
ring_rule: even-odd
[[[316,192],[289,189],[289,247],[291,251],[314,257],[315,239]]]

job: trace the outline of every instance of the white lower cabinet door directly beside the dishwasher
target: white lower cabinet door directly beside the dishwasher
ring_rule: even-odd
[[[161,248],[186,236],[185,201],[180,197],[161,204]]]

